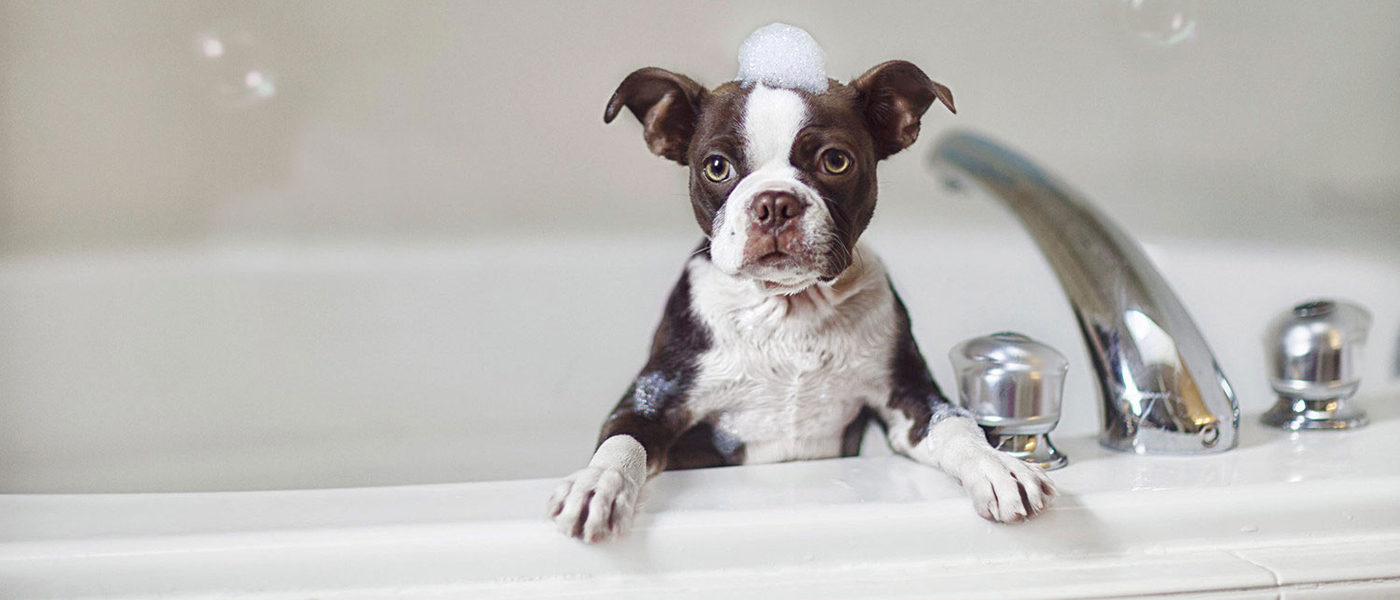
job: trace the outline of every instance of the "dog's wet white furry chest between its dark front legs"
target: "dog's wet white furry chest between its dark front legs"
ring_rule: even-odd
[[[713,340],[689,406],[742,442],[746,463],[840,456],[861,407],[889,396],[893,294],[864,255],[850,278],[794,297],[692,263],[693,306]]]

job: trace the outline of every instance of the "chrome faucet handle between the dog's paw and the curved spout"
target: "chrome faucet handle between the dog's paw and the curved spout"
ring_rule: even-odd
[[[1046,470],[1068,464],[1050,443],[1070,369],[1060,352],[1002,331],[966,340],[948,358],[958,376],[959,404],[987,431],[994,448]]]

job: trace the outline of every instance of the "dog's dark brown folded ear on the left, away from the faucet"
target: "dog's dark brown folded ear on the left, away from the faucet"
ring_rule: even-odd
[[[617,85],[603,110],[603,123],[612,123],[622,108],[627,106],[641,122],[647,147],[659,157],[685,165],[690,136],[700,117],[700,102],[708,94],[686,76],[657,67],[638,69]]]

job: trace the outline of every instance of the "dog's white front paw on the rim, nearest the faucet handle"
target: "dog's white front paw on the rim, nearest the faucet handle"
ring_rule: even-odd
[[[960,478],[983,519],[1016,523],[1050,506],[1056,488],[1043,469],[991,448],[980,455]]]

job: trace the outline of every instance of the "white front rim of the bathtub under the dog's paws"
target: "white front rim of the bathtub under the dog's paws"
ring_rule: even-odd
[[[1256,432],[1261,441],[1208,457],[1096,455],[1084,445],[1091,439],[1067,439],[1081,460],[1058,471],[1064,497],[1018,526],[983,522],[955,483],[895,456],[666,473],[652,483],[637,530],[595,547],[543,519],[553,480],[0,495],[0,580],[21,582],[13,587],[21,597],[371,597],[365,590],[389,589],[547,597],[636,586],[718,593],[826,580],[833,569],[854,578],[914,569],[911,580],[952,580],[951,590],[966,593],[976,580],[959,579],[963,571],[986,573],[1002,592],[1049,590],[1058,575],[1039,582],[1025,572],[1112,582],[1144,561],[1156,565],[1134,580],[1144,594],[1389,580],[1400,578],[1392,559],[1400,555],[1400,466],[1371,450],[1400,420],[1380,417],[1344,436]],[[1351,463],[1309,471],[1338,456]],[[1298,469],[1313,474],[1292,477]],[[1154,481],[1162,470],[1189,477]],[[1291,550],[1299,545],[1308,551]]]

